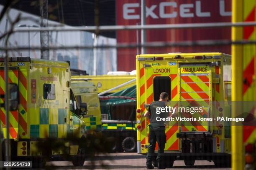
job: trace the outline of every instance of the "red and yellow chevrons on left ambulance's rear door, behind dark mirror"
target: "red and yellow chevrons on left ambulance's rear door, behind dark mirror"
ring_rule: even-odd
[[[8,70],[8,82],[15,83],[18,85],[18,70]],[[1,95],[5,94],[5,76],[4,70],[0,70],[0,92]],[[0,102],[3,103],[4,99],[1,98]],[[6,112],[5,108],[0,108],[0,115],[1,115],[1,123],[3,124],[3,135],[4,138],[7,137],[6,134]],[[18,133],[18,111],[9,111],[9,138],[16,139]]]

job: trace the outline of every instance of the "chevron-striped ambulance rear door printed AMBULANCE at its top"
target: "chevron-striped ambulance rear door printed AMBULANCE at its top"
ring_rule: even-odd
[[[179,63],[181,132],[210,131],[210,121],[199,119],[210,117],[211,69],[210,62]]]

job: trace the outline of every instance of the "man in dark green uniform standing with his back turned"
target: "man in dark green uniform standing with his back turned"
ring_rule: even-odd
[[[159,97],[159,101],[154,101],[148,107],[148,110],[145,112],[144,116],[150,120],[149,125],[149,147],[148,147],[148,154],[146,156],[146,168],[154,169],[152,165],[152,161],[154,161],[154,152],[156,148],[156,141],[158,143],[158,151],[157,151],[157,162],[158,166],[157,169],[165,169],[163,163],[163,154],[164,154],[164,146],[166,143],[166,135],[165,135],[165,122],[158,121],[159,117],[164,118],[168,117],[169,113],[164,112],[157,112],[157,107],[166,107],[166,101],[168,100],[168,94],[166,92],[162,92]],[[159,110],[159,109],[158,109]],[[158,117],[158,118],[157,118]]]

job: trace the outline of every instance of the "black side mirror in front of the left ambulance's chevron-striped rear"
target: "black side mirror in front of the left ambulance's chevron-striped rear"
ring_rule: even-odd
[[[15,83],[9,83],[9,102],[10,110],[18,110],[19,107],[19,88]]]

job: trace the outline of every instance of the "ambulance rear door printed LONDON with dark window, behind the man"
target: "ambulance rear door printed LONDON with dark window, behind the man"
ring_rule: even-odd
[[[161,57],[160,57],[161,58]],[[172,101],[178,101],[177,95],[177,73],[178,66],[176,61],[164,61],[164,60],[151,60],[146,61],[144,64],[145,71],[145,104],[149,106],[151,102],[159,100],[161,92],[167,92],[169,95],[169,103]],[[168,104],[167,104],[168,105]],[[174,104],[172,103],[172,106]],[[148,108],[148,107],[146,107]],[[146,130],[146,145],[148,143],[148,124],[149,120],[146,120],[146,124],[142,127]],[[178,122],[170,121],[169,127],[166,128],[166,145],[165,152],[171,150],[179,150],[179,139],[176,134],[179,132]],[[157,150],[156,145],[156,150]]]

